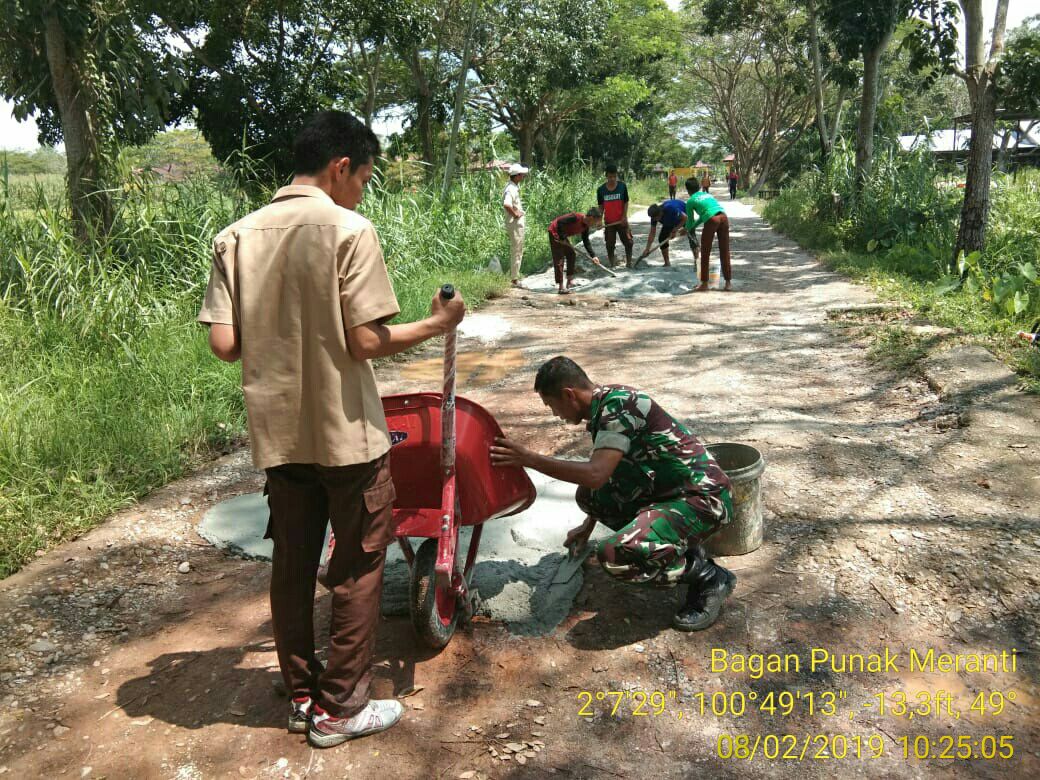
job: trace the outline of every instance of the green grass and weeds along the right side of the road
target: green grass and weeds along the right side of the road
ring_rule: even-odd
[[[1013,334],[1040,317],[1040,172],[996,174],[986,251],[951,274],[963,183],[927,151],[882,149],[870,180],[853,188],[854,154],[839,146],[763,210],[769,222],[829,262],[932,319],[980,337],[1040,386],[1036,350]]]

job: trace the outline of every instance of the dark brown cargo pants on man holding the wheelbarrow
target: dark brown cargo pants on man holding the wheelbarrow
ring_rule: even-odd
[[[266,469],[275,542],[270,614],[278,662],[293,697],[311,696],[337,718],[368,703],[386,547],[394,539],[389,453],[355,466]],[[314,586],[331,520],[329,665],[314,655]]]

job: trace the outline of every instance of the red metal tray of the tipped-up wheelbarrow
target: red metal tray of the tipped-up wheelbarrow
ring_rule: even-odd
[[[441,394],[389,395],[383,398],[383,411],[393,443],[390,471],[397,492],[396,535],[436,538],[444,514]],[[498,436],[502,430],[490,412],[456,396],[458,525],[515,515],[535,501],[535,485],[523,469],[491,465],[490,447]]]

